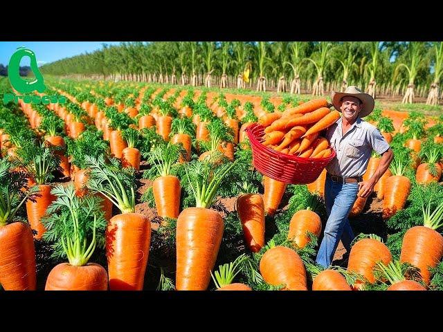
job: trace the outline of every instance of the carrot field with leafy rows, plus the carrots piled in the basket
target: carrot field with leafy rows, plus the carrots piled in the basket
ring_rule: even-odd
[[[264,176],[247,132],[262,126],[280,156],[332,158],[329,97],[55,77],[33,94],[66,103],[0,100],[3,289],[443,289],[441,106],[381,98],[363,119],[395,157],[350,212],[349,262],[340,244],[324,269],[325,170]]]

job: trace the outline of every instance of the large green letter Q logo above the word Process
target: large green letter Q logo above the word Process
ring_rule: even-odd
[[[35,78],[26,79],[20,76],[20,61],[23,57],[30,57],[30,68],[32,69]],[[37,59],[35,53],[28,48],[17,48],[12,55],[8,66],[8,77],[12,87],[19,91],[19,93],[29,93],[35,90],[43,93],[46,89],[42,73],[37,67]]]

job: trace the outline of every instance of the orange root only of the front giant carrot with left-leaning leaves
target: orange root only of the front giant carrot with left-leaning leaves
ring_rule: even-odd
[[[151,223],[139,213],[113,216],[106,230],[111,291],[141,291],[150,253]]]

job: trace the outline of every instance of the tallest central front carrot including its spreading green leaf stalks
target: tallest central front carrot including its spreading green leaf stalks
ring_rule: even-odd
[[[196,207],[186,208],[177,219],[178,291],[208,288],[210,270],[217,259],[224,230],[219,212],[209,207],[215,201],[221,181],[235,163],[213,165],[195,160],[185,166],[187,191],[195,197]]]

